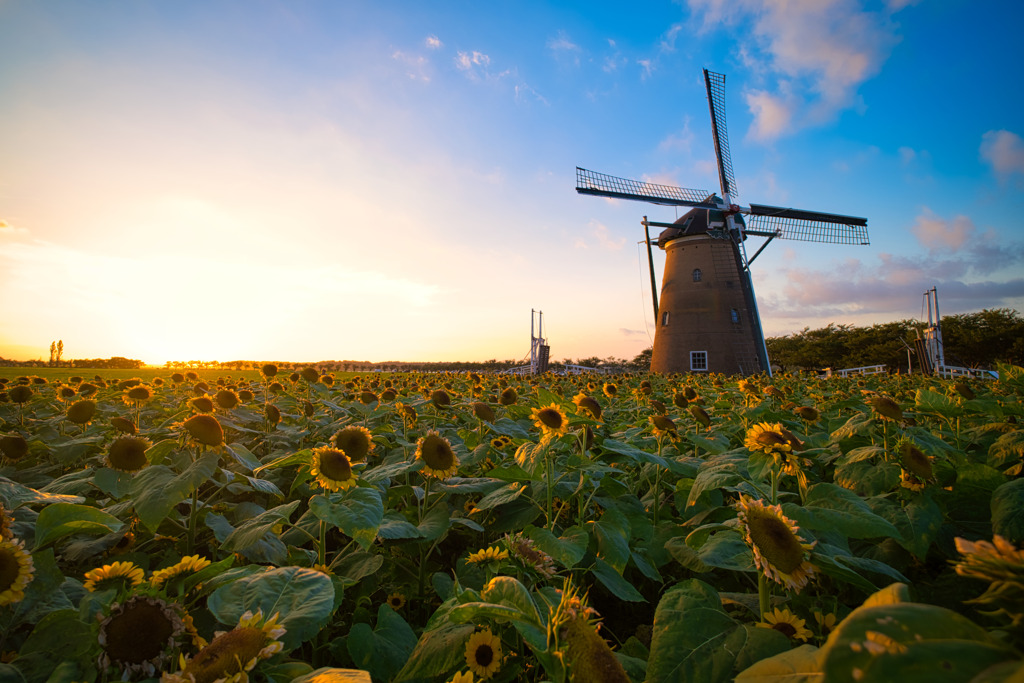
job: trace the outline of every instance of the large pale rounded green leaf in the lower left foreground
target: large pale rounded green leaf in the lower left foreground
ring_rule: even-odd
[[[246,611],[280,614],[282,636],[290,651],[315,636],[331,621],[334,586],[327,574],[305,567],[274,567],[243,577],[214,591],[207,606],[221,624],[233,628]]]

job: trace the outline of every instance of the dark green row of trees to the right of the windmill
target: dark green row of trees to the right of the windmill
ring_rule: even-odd
[[[921,370],[913,342],[925,325],[904,319],[871,327],[831,323],[783,337],[769,337],[768,357],[783,372],[885,365],[889,371]],[[986,308],[942,316],[946,365],[994,368],[996,362],[1024,366],[1024,317],[1011,308]]]

